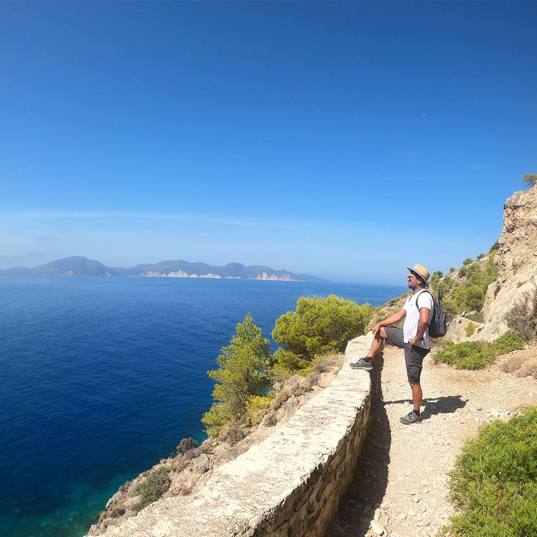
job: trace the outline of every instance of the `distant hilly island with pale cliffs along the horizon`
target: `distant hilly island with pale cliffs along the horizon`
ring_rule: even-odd
[[[154,265],[144,264],[122,269],[107,267],[86,257],[66,257],[46,265],[0,269],[0,276],[141,276],[153,278],[228,278],[243,280],[277,281],[330,281],[309,274],[293,274],[286,270],[274,270],[264,265],[244,266],[229,263],[218,267],[206,263],[190,263],[183,259],[161,261]]]

